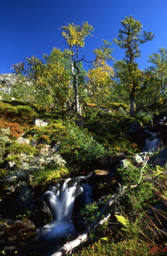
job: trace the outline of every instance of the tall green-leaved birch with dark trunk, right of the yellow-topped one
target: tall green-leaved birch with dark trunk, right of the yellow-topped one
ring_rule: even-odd
[[[125,17],[125,19],[121,21],[121,25],[123,28],[119,30],[118,38],[115,38],[114,42],[121,49],[125,49],[124,63],[126,67],[124,67],[124,78],[127,79],[124,81],[124,84],[126,89],[129,90],[130,115],[133,116],[135,111],[135,93],[140,85],[138,84],[140,78],[137,79],[138,64],[136,63],[136,59],[141,57],[139,47],[141,44],[152,41],[154,35],[152,32],[141,32],[141,22],[135,20],[132,15],[130,15],[130,17]],[[128,76],[127,73],[129,74]],[[133,79],[134,77],[135,79]]]

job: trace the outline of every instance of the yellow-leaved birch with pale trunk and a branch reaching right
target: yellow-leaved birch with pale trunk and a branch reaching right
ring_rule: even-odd
[[[109,60],[112,58],[111,53],[111,44],[106,40],[103,40],[103,46],[98,49],[94,49],[95,53],[95,60],[94,61],[87,61],[84,59],[84,55],[81,56],[81,49],[84,47],[85,38],[91,36],[91,32],[94,31],[93,26],[89,25],[87,21],[80,25],[74,25],[73,23],[68,23],[68,26],[61,26],[62,29],[62,36],[66,40],[66,44],[68,45],[69,49],[71,50],[71,72],[72,72],[72,84],[74,89],[75,95],[75,109],[78,116],[81,117],[82,110],[81,110],[81,102],[79,99],[78,93],[78,76],[80,73],[80,68],[78,63],[85,61],[87,63],[94,63],[97,60]]]

